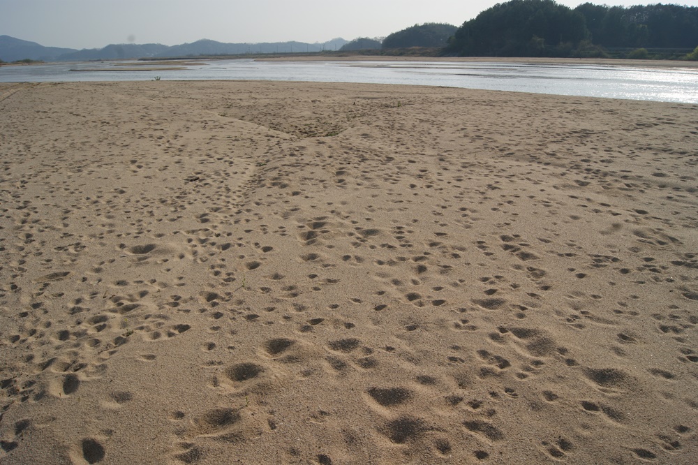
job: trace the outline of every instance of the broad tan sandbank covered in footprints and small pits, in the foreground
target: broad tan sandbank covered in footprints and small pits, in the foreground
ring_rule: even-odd
[[[2,464],[691,464],[698,108],[0,84]]]

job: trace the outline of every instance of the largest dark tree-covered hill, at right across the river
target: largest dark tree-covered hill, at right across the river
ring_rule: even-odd
[[[571,9],[553,0],[512,0],[466,21],[446,52],[462,56],[598,56],[604,48],[698,45],[698,7],[598,6]]]

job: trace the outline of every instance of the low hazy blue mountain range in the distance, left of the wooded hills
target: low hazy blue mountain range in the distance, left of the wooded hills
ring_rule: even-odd
[[[75,50],[72,48],[44,47],[35,42],[10,36],[0,36],[0,60],[33,59],[42,61],[91,61],[109,59],[198,57],[199,55],[235,55],[246,53],[302,53],[339,50],[348,41],[334,38],[325,43],[222,43],[202,39],[181,45],[111,44],[101,49]]]

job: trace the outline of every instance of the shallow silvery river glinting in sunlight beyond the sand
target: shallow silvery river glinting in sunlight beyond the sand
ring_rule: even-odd
[[[124,66],[126,65],[126,66]],[[698,104],[695,68],[461,61],[142,61],[0,67],[0,82],[282,80],[413,84]],[[122,71],[119,71],[121,68]],[[71,71],[77,70],[77,71]],[[97,71],[99,70],[99,71]],[[138,70],[138,71],[135,71]]]

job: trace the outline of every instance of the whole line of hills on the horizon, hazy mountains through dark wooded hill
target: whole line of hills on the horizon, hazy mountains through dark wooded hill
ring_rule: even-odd
[[[555,0],[510,0],[482,11],[461,27],[415,24],[384,39],[336,38],[325,43],[220,43],[198,40],[161,44],[107,45],[71,50],[0,36],[0,60],[86,61],[99,59],[198,57],[322,50],[438,50],[459,57],[575,57],[698,59],[698,7],[621,6],[584,3],[570,8]]]

